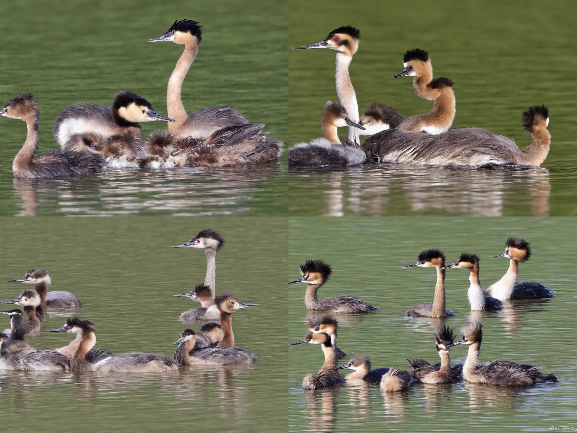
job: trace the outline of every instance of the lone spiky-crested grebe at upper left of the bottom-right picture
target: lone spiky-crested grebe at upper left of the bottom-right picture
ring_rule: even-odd
[[[306,260],[298,267],[301,277],[293,283],[307,283],[305,293],[305,306],[313,311],[327,311],[333,313],[368,313],[376,310],[373,307],[352,296],[331,296],[329,298],[318,299],[317,290],[328,280],[331,275],[331,266],[323,260]]]

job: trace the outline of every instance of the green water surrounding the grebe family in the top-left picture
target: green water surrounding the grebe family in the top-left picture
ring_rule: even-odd
[[[261,0],[3,2],[1,104],[22,90],[39,99],[39,152],[57,147],[52,124],[68,104],[110,104],[128,88],[166,114],[166,84],[183,47],[146,40],[188,18],[203,26],[203,42],[183,84],[185,109],[233,105],[286,142],[287,9],[286,3]],[[143,124],[143,135],[161,127]],[[240,169],[110,170],[14,182],[12,160],[26,127],[2,118],[0,130],[1,215],[287,212],[286,155],[278,163]]]

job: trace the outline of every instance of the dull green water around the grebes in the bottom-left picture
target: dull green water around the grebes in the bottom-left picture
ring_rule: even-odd
[[[226,240],[216,258],[217,292],[233,290],[240,300],[260,304],[233,316],[235,345],[256,354],[257,363],[161,374],[4,371],[2,425],[13,432],[46,433],[286,431],[287,292],[271,290],[286,283],[286,218],[110,221],[0,219],[0,298],[12,299],[30,287],[1,281],[45,267],[51,289],[69,290],[84,306],[73,313],[48,312],[44,330],[61,327],[74,314],[95,323],[100,348],[171,355],[171,344],[186,327],[178,315],[198,306],[172,295],[204,281],[206,260],[201,250],[170,246],[212,227]],[[9,319],[1,316],[4,329]],[[37,349],[71,340],[56,333],[29,338]],[[255,428],[264,423],[267,428]]]

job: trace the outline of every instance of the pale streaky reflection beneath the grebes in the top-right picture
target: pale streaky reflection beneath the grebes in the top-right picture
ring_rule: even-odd
[[[404,205],[417,214],[442,211],[450,215],[503,216],[508,201],[517,204],[515,197],[519,195],[530,197],[531,215],[548,216],[551,189],[548,170],[539,167],[477,170],[397,164],[369,164],[342,170],[307,167],[291,169],[289,182],[291,194],[296,191],[291,200],[292,214],[324,216],[387,215],[399,213],[396,208]],[[305,188],[313,187],[322,189],[322,203],[302,199]],[[529,210],[524,213],[529,214]]]

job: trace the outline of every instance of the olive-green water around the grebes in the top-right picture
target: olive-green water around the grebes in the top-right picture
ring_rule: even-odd
[[[349,170],[292,170],[289,212],[315,215],[577,215],[574,3],[291,0],[289,47],[319,42],[332,29],[361,30],[350,66],[360,111],[386,103],[408,117],[432,103],[413,93],[403,53],[429,51],[434,74],[455,81],[453,128],[478,126],[530,143],[527,107],[549,107],[551,150],[541,169],[523,173],[367,165]],[[290,145],[321,135],[320,112],[335,93],[333,50],[290,50]],[[340,131],[346,136],[346,130]]]

